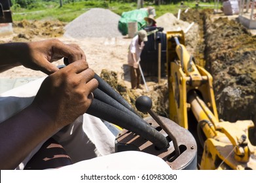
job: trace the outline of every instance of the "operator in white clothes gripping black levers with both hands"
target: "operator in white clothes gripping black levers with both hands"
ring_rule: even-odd
[[[63,57],[70,63],[63,69],[52,64]],[[128,159],[124,164],[130,162],[132,168],[153,169],[158,165],[170,169],[162,159],[142,152],[113,154],[115,137],[100,119],[85,114],[98,81],[79,46],[57,39],[0,44],[0,71],[18,65],[48,76],[0,95],[0,169],[24,169],[50,138],[63,145],[72,161],[71,165],[45,169],[75,169],[77,165],[80,169],[81,165],[82,169],[125,169],[120,166],[121,157]],[[102,158],[97,160],[98,156]],[[44,161],[52,157],[46,156]],[[149,159],[152,161],[146,162]]]

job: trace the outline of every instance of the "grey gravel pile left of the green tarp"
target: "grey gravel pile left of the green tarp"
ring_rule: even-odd
[[[119,19],[120,16],[111,10],[92,8],[64,27],[64,37],[121,37]]]

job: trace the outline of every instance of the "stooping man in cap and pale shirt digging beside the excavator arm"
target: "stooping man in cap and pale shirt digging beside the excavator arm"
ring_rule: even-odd
[[[130,81],[132,89],[142,89],[141,72],[139,70],[139,61],[144,42],[147,41],[147,32],[145,30],[138,31],[137,35],[132,39],[128,50],[128,65],[130,66]]]

